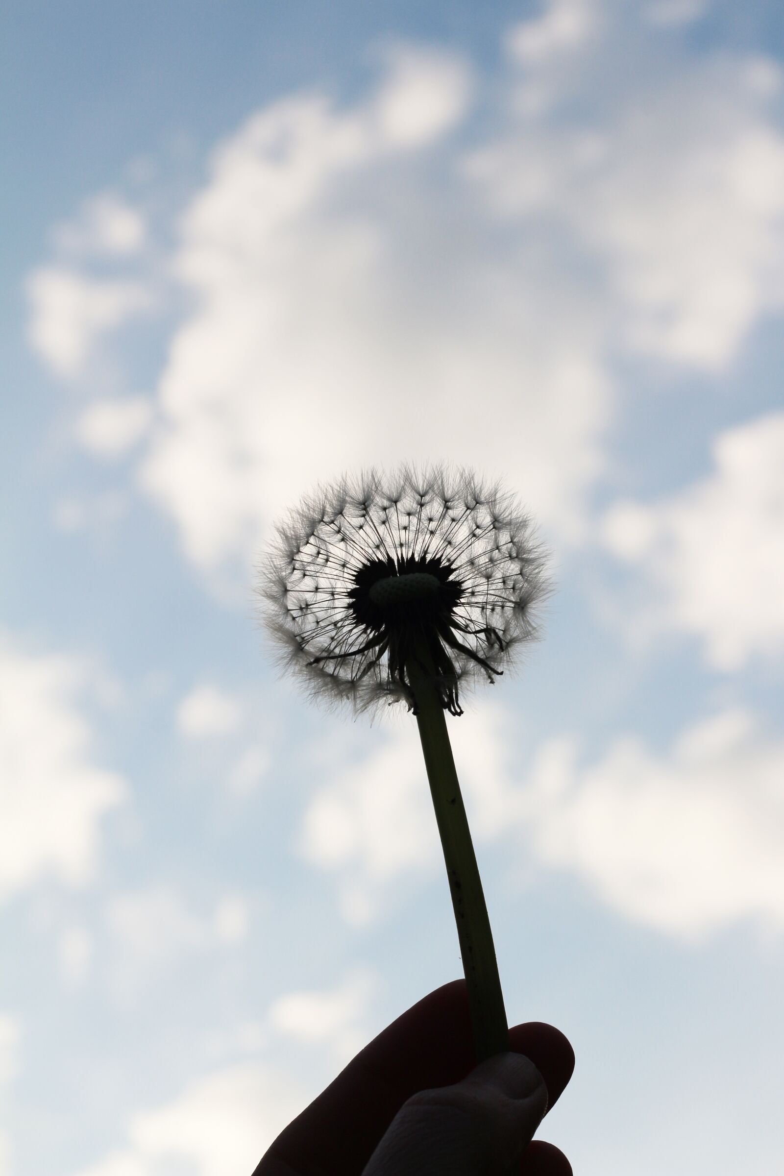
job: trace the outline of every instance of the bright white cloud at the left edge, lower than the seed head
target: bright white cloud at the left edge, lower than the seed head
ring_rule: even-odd
[[[0,897],[47,876],[87,883],[101,817],[125,800],[120,776],[92,762],[83,681],[74,659],[0,637]]]

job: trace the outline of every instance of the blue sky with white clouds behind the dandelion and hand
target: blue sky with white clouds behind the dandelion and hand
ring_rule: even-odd
[[[551,553],[449,719],[510,1020],[577,1055],[542,1136],[775,1170],[780,7],[1,20],[0,1176],[249,1174],[461,975],[414,720],[314,707],[254,596],[403,460]]]

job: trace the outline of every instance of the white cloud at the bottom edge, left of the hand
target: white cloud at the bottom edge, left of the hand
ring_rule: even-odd
[[[172,1102],[134,1115],[128,1145],[79,1176],[160,1176],[175,1168],[193,1176],[250,1172],[306,1101],[270,1067],[227,1067],[190,1082]]]

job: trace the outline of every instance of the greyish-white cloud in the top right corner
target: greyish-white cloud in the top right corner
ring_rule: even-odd
[[[552,0],[508,45],[520,65],[509,129],[468,163],[490,206],[571,241],[572,266],[601,267],[614,346],[724,368],[782,306],[778,65],[679,59],[619,7],[572,0]],[[577,46],[577,61],[564,56]]]

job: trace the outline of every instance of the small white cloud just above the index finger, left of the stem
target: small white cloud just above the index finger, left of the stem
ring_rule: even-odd
[[[279,997],[269,1008],[268,1024],[294,1041],[329,1047],[346,1065],[368,1042],[363,1021],[376,987],[375,973],[355,968],[330,990]]]

